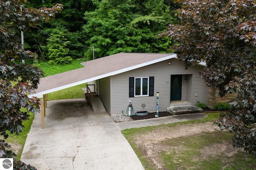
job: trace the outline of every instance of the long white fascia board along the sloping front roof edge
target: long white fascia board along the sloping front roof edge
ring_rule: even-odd
[[[108,76],[113,76],[113,75],[116,75],[116,74],[120,74],[120,73],[123,73],[123,72],[134,70],[136,68],[140,68],[140,67],[143,67],[143,66],[148,66],[150,64],[158,63],[158,62],[161,62],[161,61],[166,61],[168,59],[173,59],[173,58],[177,59],[176,54],[168,55],[168,56],[165,56],[165,57],[161,57],[159,59],[155,59],[155,60],[148,61],[148,62],[145,62],[145,63],[137,64],[137,65],[130,66],[130,67],[127,67],[127,68],[123,68],[123,69],[120,69],[120,70],[116,70],[116,71],[113,71],[113,72],[102,74],[100,76],[95,76],[95,77],[88,78],[88,79],[85,79],[85,80],[81,80],[81,81],[78,81],[78,82],[66,84],[64,86],[59,86],[59,87],[52,88],[52,89],[49,89],[49,90],[44,90],[42,92],[30,94],[30,95],[28,95],[28,97],[29,98],[31,98],[31,97],[42,98],[44,94],[48,94],[48,93],[51,93],[51,92],[56,92],[58,90],[62,90],[62,89],[65,89],[65,88],[70,88],[70,87],[77,86],[77,85],[80,85],[80,84],[84,84],[84,83],[87,83],[87,82],[91,82],[91,81],[94,81],[94,80],[99,80],[101,78],[105,78],[105,77],[108,77]]]

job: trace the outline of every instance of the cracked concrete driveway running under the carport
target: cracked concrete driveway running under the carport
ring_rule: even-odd
[[[36,114],[21,160],[38,170],[144,170],[108,113],[84,99],[48,101],[44,129]]]

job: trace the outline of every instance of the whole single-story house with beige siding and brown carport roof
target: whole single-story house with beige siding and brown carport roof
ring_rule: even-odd
[[[96,93],[111,116],[122,115],[128,101],[134,112],[156,112],[157,92],[159,111],[166,111],[170,102],[186,101],[192,106],[208,102],[208,88],[198,77],[206,63],[185,70],[174,53],[118,53],[81,64],[83,68],[41,78],[30,96],[44,98],[50,92],[96,81]]]

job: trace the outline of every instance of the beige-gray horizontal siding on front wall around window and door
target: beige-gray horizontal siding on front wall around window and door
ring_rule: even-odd
[[[122,110],[126,113],[128,106],[128,100],[131,100],[134,112],[136,111],[156,111],[156,92],[159,92],[159,111],[166,111],[166,107],[170,106],[170,77],[171,75],[187,74],[187,81],[183,81],[182,96],[185,101],[196,104],[198,100],[208,100],[208,88],[205,87],[205,83],[202,79],[197,78],[198,72],[203,66],[191,66],[188,70],[184,69],[183,62],[177,59],[171,59],[169,61],[162,61],[160,63],[151,64],[135,70],[130,70],[121,74],[112,76],[111,79],[111,115],[120,115]],[[193,76],[192,76],[193,75]],[[154,76],[154,96],[139,96],[129,98],[129,77],[150,77]],[[183,76],[184,79],[184,76]],[[190,80],[191,79],[191,80]],[[195,81],[192,86],[192,79]],[[186,83],[186,84],[185,84]],[[190,84],[190,85],[189,85]],[[187,93],[187,95],[185,94]],[[193,100],[195,93],[200,94]],[[204,94],[206,94],[204,96]],[[183,100],[182,99],[182,100]],[[141,107],[145,104],[146,107]]]

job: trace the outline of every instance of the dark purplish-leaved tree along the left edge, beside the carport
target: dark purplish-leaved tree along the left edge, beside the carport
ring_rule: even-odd
[[[20,31],[30,31],[30,27],[50,21],[62,10],[61,4],[38,10],[21,8],[22,2],[25,0],[0,1],[0,135],[5,139],[6,131],[17,135],[23,131],[22,121],[29,119],[28,112],[38,112],[40,105],[37,98],[28,98],[28,94],[37,88],[43,73],[26,63],[35,59],[35,54],[22,48]],[[0,158],[14,158],[15,154],[9,149],[10,146],[0,140]],[[15,158],[14,167],[33,169]]]

